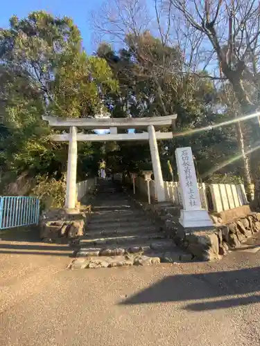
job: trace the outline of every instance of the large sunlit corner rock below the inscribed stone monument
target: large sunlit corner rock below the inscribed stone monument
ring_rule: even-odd
[[[211,231],[199,231],[186,235],[189,242],[188,250],[199,260],[216,260],[219,258],[218,236]]]

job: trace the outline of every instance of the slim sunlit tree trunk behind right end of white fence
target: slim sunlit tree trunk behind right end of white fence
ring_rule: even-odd
[[[236,134],[239,142],[239,149],[241,152],[243,160],[243,181],[245,185],[245,192],[248,197],[248,201],[252,201],[254,198],[254,185],[252,184],[251,174],[250,174],[250,161],[247,154],[245,154],[245,143],[243,131],[241,128],[241,122],[236,122]]]

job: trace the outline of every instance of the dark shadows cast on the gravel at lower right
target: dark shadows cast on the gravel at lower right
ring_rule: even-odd
[[[248,295],[257,292],[260,293],[260,267],[236,271],[169,276],[119,304],[212,300],[227,295]],[[192,302],[184,309],[192,311],[224,309],[256,302],[260,302],[260,296],[257,294],[211,302]]]

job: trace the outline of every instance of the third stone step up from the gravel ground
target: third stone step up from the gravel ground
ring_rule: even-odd
[[[147,233],[144,235],[128,235],[128,236],[119,236],[119,237],[104,237],[96,239],[87,239],[82,237],[80,239],[80,247],[82,246],[102,246],[108,244],[127,244],[131,246],[133,244],[138,244],[139,242],[148,242],[151,239],[164,239],[164,233]]]

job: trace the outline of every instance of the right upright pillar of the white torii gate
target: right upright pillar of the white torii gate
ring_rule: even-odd
[[[161,163],[159,161],[159,152],[157,146],[157,139],[155,134],[155,127],[153,125],[148,126],[150,156],[153,163],[153,175],[155,176],[155,189],[157,193],[158,202],[165,201],[164,194],[164,181],[162,179]]]

